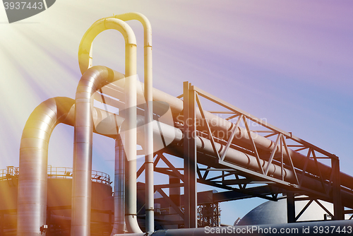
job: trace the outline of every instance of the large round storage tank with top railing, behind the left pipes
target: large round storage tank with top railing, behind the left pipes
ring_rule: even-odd
[[[48,166],[47,236],[70,235],[72,168]],[[0,235],[16,235],[18,167],[0,170]],[[110,235],[114,205],[110,176],[92,171],[91,235]]]

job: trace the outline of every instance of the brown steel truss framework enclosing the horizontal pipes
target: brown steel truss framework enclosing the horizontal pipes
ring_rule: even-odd
[[[263,119],[254,117],[228,102],[206,93],[189,82],[184,82],[184,93],[178,98],[184,99],[184,124],[175,125],[179,125],[179,128],[184,130],[184,141],[155,153],[154,170],[164,175],[177,177],[181,183],[155,185],[155,191],[160,192],[174,208],[174,211],[184,219],[185,228],[200,227],[205,218],[205,216],[201,216],[203,215],[201,209],[204,209],[205,206],[198,206],[197,183],[225,189],[223,192],[214,194],[215,203],[251,197],[260,197],[271,201],[287,198],[288,223],[299,222],[300,216],[313,202],[321,206],[327,216],[333,220],[343,220],[345,214],[352,213],[352,210],[344,210],[343,206],[347,208],[349,205],[342,204],[341,201],[341,190],[345,189],[350,192],[352,190],[341,187],[337,156],[293,136],[290,132],[282,131]],[[208,103],[215,103],[223,110],[204,110],[203,103],[206,102],[201,102],[201,98],[207,100]],[[214,135],[212,121],[205,116],[205,112],[227,115],[225,120],[232,122],[232,129],[229,129],[225,137],[220,138],[219,135]],[[201,115],[201,119],[196,116],[196,113],[198,116]],[[201,123],[204,125],[200,125]],[[251,124],[256,126],[256,129],[251,129]],[[249,143],[246,145],[241,143],[240,138],[237,137],[241,126],[244,126],[242,129],[246,131],[248,137]],[[213,148],[212,153],[198,150],[196,147],[197,136],[210,140]],[[263,147],[254,141],[260,136],[273,140],[271,141],[273,146],[269,148],[269,151],[264,151]],[[241,138],[244,138],[244,134]],[[226,155],[229,148],[255,158],[256,166],[241,165],[234,160],[227,160]],[[294,152],[301,153],[304,158],[301,158],[300,161],[294,160],[292,157]],[[164,153],[184,158],[184,167],[172,165]],[[295,158],[298,159],[298,154]],[[167,167],[157,166],[161,160]],[[328,175],[327,173],[324,175],[319,160],[330,160],[332,171]],[[271,165],[280,168],[276,172],[279,172],[280,175],[274,175]],[[308,170],[309,166],[310,171]],[[143,170],[144,165],[140,167],[137,175],[141,175]],[[288,177],[289,172],[292,173],[292,177]],[[308,179],[317,183],[315,188],[306,187],[305,183]],[[174,204],[162,190],[171,187],[184,187],[184,209]],[[334,212],[328,211],[318,199],[333,203]],[[299,213],[296,213],[295,202],[304,200],[309,202]],[[217,218],[218,213],[218,211],[215,212],[213,218]]]

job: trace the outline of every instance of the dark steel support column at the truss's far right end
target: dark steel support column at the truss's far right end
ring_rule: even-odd
[[[337,157],[331,158],[331,167],[333,171],[333,220],[345,220],[341,199],[340,160]]]

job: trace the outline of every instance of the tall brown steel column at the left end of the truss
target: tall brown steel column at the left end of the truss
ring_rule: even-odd
[[[184,82],[184,228],[197,228],[196,92]]]

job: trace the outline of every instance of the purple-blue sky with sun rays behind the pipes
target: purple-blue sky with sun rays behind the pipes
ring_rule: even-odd
[[[353,175],[352,1],[68,1],[7,23],[0,7],[0,168],[18,166],[30,112],[48,98],[75,97],[78,45],[92,23],[138,11],[152,24],[154,87],[171,95],[182,82],[292,131],[340,158]],[[142,26],[138,76],[143,78]],[[124,73],[124,40],[104,32],[93,64]],[[73,128],[59,125],[49,164],[72,166]],[[114,141],[95,136],[93,169],[113,176]],[[232,224],[256,203],[222,204]],[[229,216],[229,217],[228,217]]]

